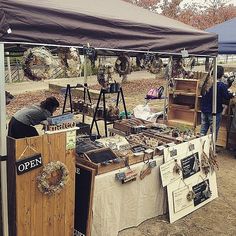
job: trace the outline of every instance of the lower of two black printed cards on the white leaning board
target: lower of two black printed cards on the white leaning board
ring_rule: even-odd
[[[209,180],[207,179],[197,185],[194,185],[193,192],[195,193],[194,206],[197,206],[209,199],[211,197]]]

